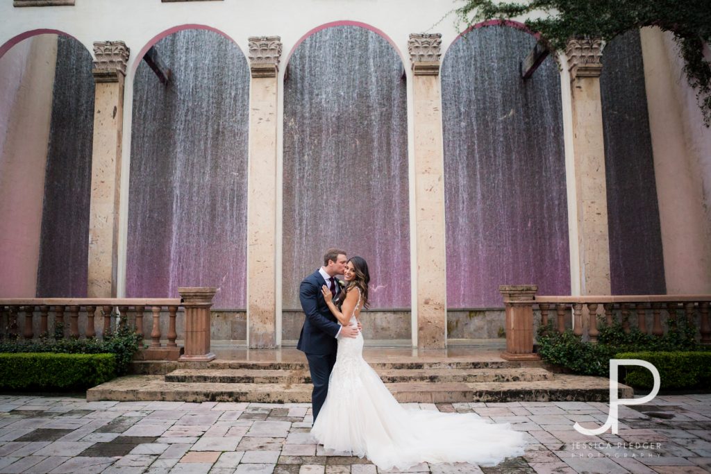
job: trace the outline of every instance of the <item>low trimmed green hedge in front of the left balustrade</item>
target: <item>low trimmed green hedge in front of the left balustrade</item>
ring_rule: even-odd
[[[0,354],[2,389],[86,389],[114,377],[113,354]]]

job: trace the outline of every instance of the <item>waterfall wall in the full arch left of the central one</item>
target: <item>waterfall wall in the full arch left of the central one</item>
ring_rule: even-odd
[[[155,48],[172,76],[141,61],[134,81],[127,296],[217,286],[214,308],[245,308],[247,60],[204,30]]]

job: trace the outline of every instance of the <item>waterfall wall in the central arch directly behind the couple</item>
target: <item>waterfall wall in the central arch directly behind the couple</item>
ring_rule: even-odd
[[[407,99],[384,38],[333,26],[306,38],[284,82],[284,308],[328,247],[368,261],[373,308],[410,307]]]

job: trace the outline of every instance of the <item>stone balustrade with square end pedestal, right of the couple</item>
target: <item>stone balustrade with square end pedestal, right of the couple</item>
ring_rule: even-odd
[[[559,333],[565,331],[566,319],[572,315],[573,333],[591,343],[597,343],[598,320],[604,317],[607,325],[620,321],[626,333],[634,325],[642,333],[656,336],[664,333],[663,319],[685,318],[699,328],[700,343],[711,344],[711,295],[537,296],[535,285],[501,286],[499,291],[506,306],[506,352],[502,357],[507,360],[538,360],[533,352],[535,308],[540,324],[553,322]]]

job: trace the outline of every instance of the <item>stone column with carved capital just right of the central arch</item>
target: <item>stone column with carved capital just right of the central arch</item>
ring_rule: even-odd
[[[447,274],[444,248],[444,148],[439,48],[442,35],[411,34],[415,104],[415,242],[417,346],[447,347]]]

